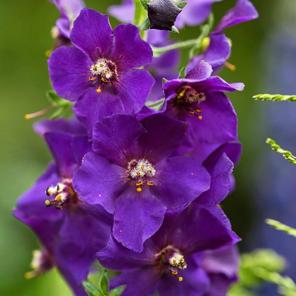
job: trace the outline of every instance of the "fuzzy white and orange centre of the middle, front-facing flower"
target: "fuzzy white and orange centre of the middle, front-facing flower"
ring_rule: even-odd
[[[131,160],[128,163],[128,174],[132,179],[132,184],[136,186],[137,192],[141,192],[142,185],[146,184],[149,187],[155,185],[153,176],[156,173],[154,165],[152,165],[147,159]]]

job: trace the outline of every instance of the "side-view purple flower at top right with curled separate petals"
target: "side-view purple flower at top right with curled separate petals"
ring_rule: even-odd
[[[238,0],[234,8],[222,17],[216,30],[210,34],[209,39],[205,39],[208,43],[205,45],[205,52],[193,57],[187,65],[187,69],[192,69],[200,60],[205,60],[213,67],[222,65],[229,58],[231,48],[227,37],[221,34],[221,31],[256,18],[258,18],[258,12],[253,4],[248,0]]]

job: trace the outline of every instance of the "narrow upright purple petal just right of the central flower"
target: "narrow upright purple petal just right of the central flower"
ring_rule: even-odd
[[[223,153],[216,161],[215,166],[209,170],[211,175],[210,189],[200,195],[198,202],[212,206],[220,203],[229,193],[229,175],[232,170],[232,161]]]

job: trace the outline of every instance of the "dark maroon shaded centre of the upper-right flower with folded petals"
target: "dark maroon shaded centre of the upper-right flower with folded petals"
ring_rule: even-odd
[[[175,96],[175,104],[184,108],[188,114],[195,115],[198,119],[202,119],[200,113],[202,110],[197,106],[205,101],[206,97],[203,92],[198,92],[191,86],[181,86]]]

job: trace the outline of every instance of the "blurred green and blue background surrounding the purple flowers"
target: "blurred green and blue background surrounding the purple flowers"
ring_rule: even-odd
[[[120,1],[86,1],[102,13]],[[213,5],[215,22],[234,1]],[[31,280],[31,252],[38,249],[33,232],[12,217],[17,197],[28,189],[51,159],[43,140],[32,130],[26,113],[48,106],[45,91],[50,89],[45,51],[53,40],[49,35],[59,13],[46,0],[2,1],[0,11],[1,65],[1,228],[0,295],[71,295],[56,270]],[[287,274],[295,279],[295,238],[264,224],[274,218],[296,227],[296,166],[271,151],[266,137],[296,153],[296,103],[256,102],[259,93],[296,94],[296,1],[256,0],[259,19],[228,28],[232,40],[229,62],[220,76],[228,82],[244,82],[242,93],[230,94],[239,120],[243,155],[234,170],[237,188],[222,202],[234,231],[242,237],[242,251],[269,247],[288,260]],[[118,22],[110,17],[112,27]],[[193,38],[198,29],[186,27],[178,38]],[[176,37],[176,36],[174,36]],[[266,287],[260,295],[278,295]]]

